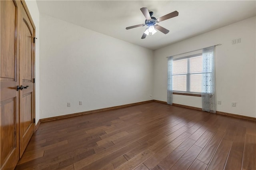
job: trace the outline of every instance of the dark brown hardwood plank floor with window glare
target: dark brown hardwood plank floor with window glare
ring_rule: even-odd
[[[41,123],[22,169],[256,170],[256,123],[144,103]]]

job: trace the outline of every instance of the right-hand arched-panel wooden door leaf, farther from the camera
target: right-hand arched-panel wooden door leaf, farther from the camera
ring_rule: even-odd
[[[20,157],[34,133],[34,27],[21,5],[20,10]]]

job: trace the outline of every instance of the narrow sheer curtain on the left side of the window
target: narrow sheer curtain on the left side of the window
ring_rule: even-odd
[[[173,57],[168,57],[168,83],[167,83],[167,104],[172,105],[172,62]]]

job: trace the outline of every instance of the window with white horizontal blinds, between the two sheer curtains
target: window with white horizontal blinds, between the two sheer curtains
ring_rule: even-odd
[[[180,93],[202,93],[202,53],[173,59],[172,89]]]

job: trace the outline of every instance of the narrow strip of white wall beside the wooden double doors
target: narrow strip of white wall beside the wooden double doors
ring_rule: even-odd
[[[36,53],[35,53],[35,78],[36,78],[36,89],[35,89],[35,102],[36,102],[36,123],[38,123],[40,119],[40,90],[39,90],[39,10],[36,4],[35,0],[26,0],[26,5],[28,6],[28,10],[30,12],[30,15],[32,17],[32,20],[36,26]]]

